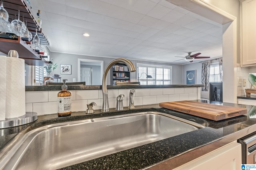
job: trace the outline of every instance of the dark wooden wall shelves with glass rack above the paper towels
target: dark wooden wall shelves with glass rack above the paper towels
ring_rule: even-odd
[[[32,15],[30,5],[26,0],[4,0],[4,9],[6,9],[9,14],[10,22],[13,19],[17,19],[18,10],[20,10],[20,20],[27,21],[28,30],[32,33],[33,37],[37,29],[40,44],[49,45],[49,42],[42,33],[42,29],[39,29],[36,16]],[[23,58],[28,65],[46,66],[48,64],[48,61],[45,61],[42,56],[26,43],[26,41],[22,41],[21,37],[18,37],[18,39],[0,38],[0,51],[8,54],[8,51],[11,49],[18,51],[19,58]]]

